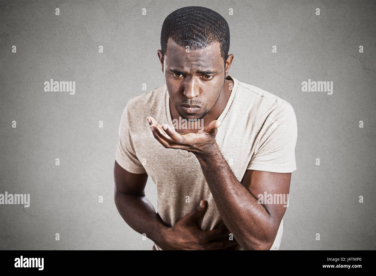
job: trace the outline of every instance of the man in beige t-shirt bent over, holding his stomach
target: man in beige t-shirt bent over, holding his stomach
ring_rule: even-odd
[[[229,43],[217,12],[174,11],[158,50],[166,84],[124,109],[115,204],[153,250],[279,248],[287,205],[275,199],[288,198],[296,170],[296,117],[286,101],[230,77]],[[145,197],[148,176],[158,213]]]

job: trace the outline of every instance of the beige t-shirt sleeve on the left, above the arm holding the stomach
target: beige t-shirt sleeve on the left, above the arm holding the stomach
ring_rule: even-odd
[[[129,104],[129,102],[128,102]],[[142,163],[138,160],[132,143],[132,137],[129,131],[129,112],[128,104],[121,116],[119,126],[119,140],[115,160],[117,163],[128,172],[132,173],[146,173]]]

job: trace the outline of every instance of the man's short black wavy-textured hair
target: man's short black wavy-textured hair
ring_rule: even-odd
[[[226,65],[230,48],[230,29],[217,12],[200,6],[188,6],[171,12],[163,21],[161,31],[162,60],[171,38],[177,45],[192,50],[220,43],[221,57]]]

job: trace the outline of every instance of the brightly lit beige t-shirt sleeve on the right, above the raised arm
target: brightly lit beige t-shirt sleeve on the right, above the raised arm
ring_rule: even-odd
[[[285,102],[271,112],[259,137],[255,155],[247,169],[279,173],[296,170],[297,122],[290,103]]]

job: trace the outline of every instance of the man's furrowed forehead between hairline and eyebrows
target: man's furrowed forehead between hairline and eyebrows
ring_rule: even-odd
[[[171,38],[167,42],[165,62],[168,66],[180,69],[220,68],[223,65],[219,42],[213,42],[203,49],[192,50],[187,53],[186,48],[177,45]]]

